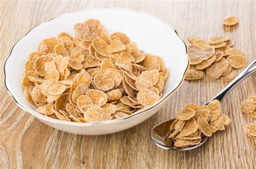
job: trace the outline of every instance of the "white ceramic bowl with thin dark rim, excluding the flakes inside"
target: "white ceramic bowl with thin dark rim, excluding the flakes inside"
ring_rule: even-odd
[[[39,42],[45,38],[56,37],[60,32],[75,36],[73,25],[90,18],[99,19],[108,34],[124,32],[131,41],[136,42],[139,49],[158,55],[164,60],[170,75],[163,97],[148,109],[111,121],[76,123],[45,117],[36,112],[35,106],[28,103],[22,94],[21,81],[28,55],[36,51]],[[5,87],[19,107],[53,128],[80,135],[105,135],[129,129],[155,114],[179,88],[188,65],[186,45],[171,25],[144,12],[127,9],[87,9],[53,18],[33,28],[17,41],[5,62]]]

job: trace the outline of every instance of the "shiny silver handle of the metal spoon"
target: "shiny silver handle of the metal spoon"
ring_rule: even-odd
[[[228,93],[230,93],[230,91],[237,86],[241,81],[243,81],[244,79],[246,79],[249,75],[251,75],[253,72],[256,71],[256,60],[254,60],[248,67],[246,67],[244,69],[244,71],[242,71],[237,78],[235,78],[232,82],[230,82],[223,90],[220,91],[219,94],[217,94],[216,96],[214,96],[209,102],[206,103],[206,105],[208,103],[210,103],[212,100],[217,99],[220,102],[223,101],[223,99],[226,97],[226,95]]]

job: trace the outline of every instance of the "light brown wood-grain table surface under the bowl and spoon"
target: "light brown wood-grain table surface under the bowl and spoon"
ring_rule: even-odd
[[[107,2],[107,1],[0,1],[1,67],[11,47],[32,27],[62,13],[86,8],[120,7],[152,13],[171,23],[184,39],[225,35],[256,57],[256,2]],[[224,30],[222,20],[238,16],[239,25]],[[241,71],[241,70],[240,70]],[[255,119],[240,112],[239,104],[256,94],[256,74],[237,86],[224,100],[223,112],[232,122],[200,148],[188,152],[165,151],[155,146],[150,129],[187,103],[203,104],[224,88],[222,80],[185,81],[156,115],[122,132],[104,136],[80,136],[58,131],[18,108],[1,78],[0,168],[256,168],[256,141],[245,135],[247,123]],[[19,84],[17,84],[19,85]]]

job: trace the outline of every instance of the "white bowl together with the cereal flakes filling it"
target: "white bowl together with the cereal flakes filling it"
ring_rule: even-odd
[[[171,25],[144,12],[87,9],[17,41],[5,62],[5,86],[19,107],[53,128],[104,135],[154,115],[188,65]]]

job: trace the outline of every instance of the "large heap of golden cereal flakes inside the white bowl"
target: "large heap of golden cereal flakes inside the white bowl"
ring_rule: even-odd
[[[98,122],[129,116],[162,96],[168,69],[138,50],[124,33],[107,36],[99,20],[44,39],[25,64],[22,89],[37,112],[63,121]]]

